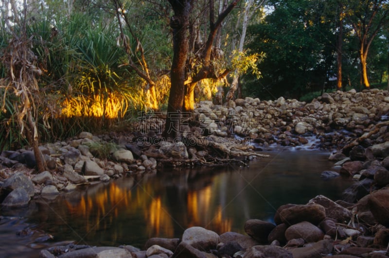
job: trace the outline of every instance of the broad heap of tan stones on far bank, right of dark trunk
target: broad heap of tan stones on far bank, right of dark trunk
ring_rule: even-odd
[[[247,97],[226,105],[203,101],[197,105],[194,118],[207,132],[237,134],[265,147],[273,143],[299,146],[306,143],[301,135],[316,135],[321,140],[316,148],[336,149],[370,131],[378,121],[388,119],[388,113],[389,92],[371,89],[324,93],[311,103],[283,97],[276,101]],[[337,133],[329,134],[334,131]]]

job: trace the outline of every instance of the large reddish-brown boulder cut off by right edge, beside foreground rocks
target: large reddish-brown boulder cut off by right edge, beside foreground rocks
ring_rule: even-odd
[[[371,193],[368,204],[378,223],[389,227],[389,189]]]

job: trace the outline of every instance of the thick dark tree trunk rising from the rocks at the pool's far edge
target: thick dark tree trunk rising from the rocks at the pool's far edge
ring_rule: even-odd
[[[163,137],[179,138],[179,125],[184,100],[185,64],[188,54],[188,24],[192,0],[169,0],[174,16],[170,20],[173,29],[173,62],[170,71],[170,94]]]

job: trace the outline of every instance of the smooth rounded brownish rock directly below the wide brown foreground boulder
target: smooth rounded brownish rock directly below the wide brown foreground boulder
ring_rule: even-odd
[[[324,233],[320,228],[306,221],[291,225],[285,231],[287,241],[302,238],[306,242],[317,242],[322,240],[323,237]]]

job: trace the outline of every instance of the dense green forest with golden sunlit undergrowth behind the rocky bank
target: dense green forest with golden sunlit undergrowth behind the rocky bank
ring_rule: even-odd
[[[2,0],[0,149],[131,130],[139,112],[166,110],[175,2]],[[182,2],[193,102],[389,87],[388,0]]]

